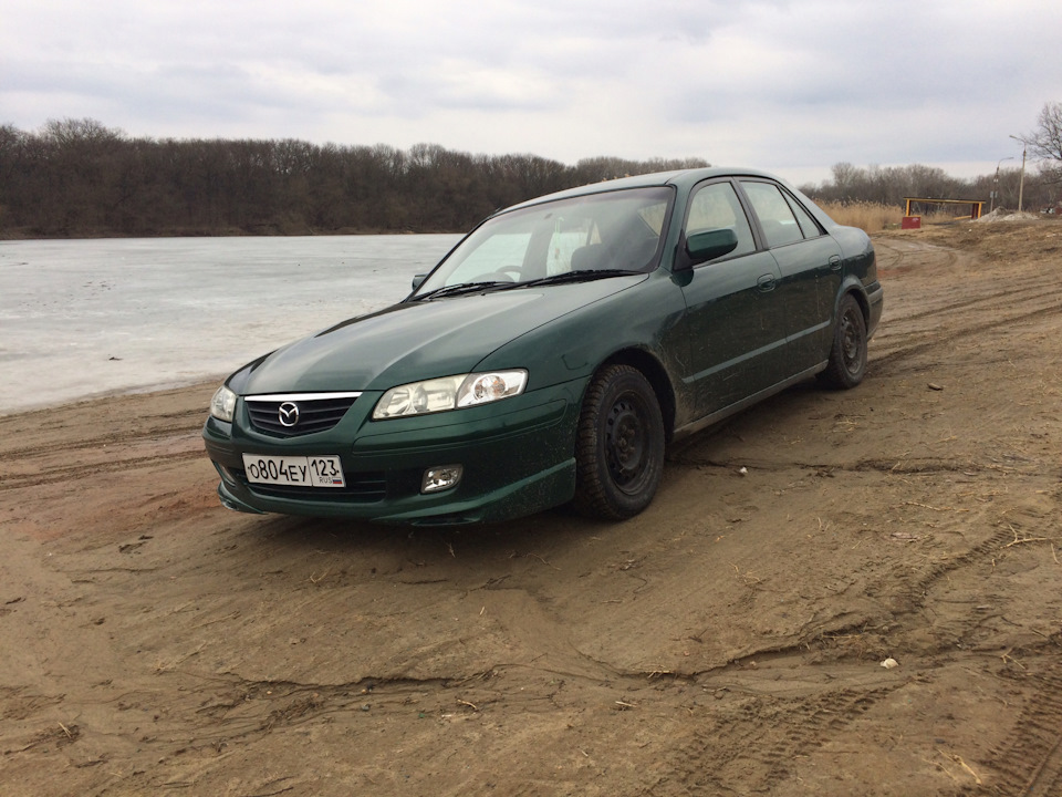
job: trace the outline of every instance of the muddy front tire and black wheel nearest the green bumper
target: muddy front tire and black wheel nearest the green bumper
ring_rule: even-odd
[[[575,441],[575,498],[581,514],[625,520],[645,509],[664,474],[664,420],[642,372],[608,365],[583,400]]]

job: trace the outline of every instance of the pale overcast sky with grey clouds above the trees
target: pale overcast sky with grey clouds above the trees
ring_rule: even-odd
[[[1021,161],[1059,0],[3,0],[0,124],[131,136],[840,162]]]

